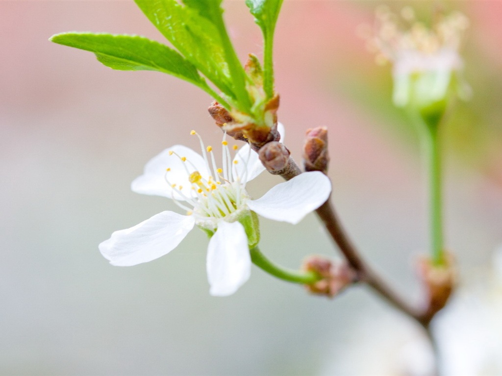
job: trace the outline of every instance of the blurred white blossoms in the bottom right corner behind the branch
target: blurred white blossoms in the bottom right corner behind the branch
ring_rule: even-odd
[[[450,303],[432,321],[445,376],[502,374],[502,246],[488,272],[460,279]],[[429,376],[433,354],[423,330],[408,318],[389,314],[362,319],[348,344],[321,374]],[[361,361],[363,359],[363,361]],[[334,371],[336,367],[336,372]]]

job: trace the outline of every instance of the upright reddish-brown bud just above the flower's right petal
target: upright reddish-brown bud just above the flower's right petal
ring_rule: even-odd
[[[303,146],[303,164],[306,171],[328,171],[328,129],[316,127],[307,130]]]

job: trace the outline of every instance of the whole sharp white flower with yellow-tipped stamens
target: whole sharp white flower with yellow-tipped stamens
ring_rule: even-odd
[[[258,154],[246,144],[232,161],[223,139],[222,168],[217,168],[212,147],[205,148],[201,139],[200,144],[202,155],[182,145],[164,150],[132,183],[134,192],[173,199],[186,215],[159,213],[130,229],[115,231],[99,250],[112,265],[137,265],[171,252],[197,225],[212,235],[207,251],[210,293],[226,296],[250,275],[249,246],[258,243],[253,212],[296,224],[327,200],[331,183],[321,172],[305,172],[252,200],[245,184],[265,169]]]

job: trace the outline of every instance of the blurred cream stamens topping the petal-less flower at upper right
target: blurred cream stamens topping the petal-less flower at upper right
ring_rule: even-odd
[[[398,16],[384,6],[376,11],[373,30],[361,30],[361,34],[379,63],[395,62],[407,52],[433,55],[443,50],[458,51],[468,19],[459,12],[435,16],[428,28],[415,19],[412,8],[404,8]]]

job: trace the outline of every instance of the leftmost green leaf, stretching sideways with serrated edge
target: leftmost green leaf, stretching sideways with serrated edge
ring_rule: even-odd
[[[93,52],[105,66],[122,71],[158,71],[207,86],[197,69],[178,52],[147,38],[129,35],[62,33],[50,41]]]

